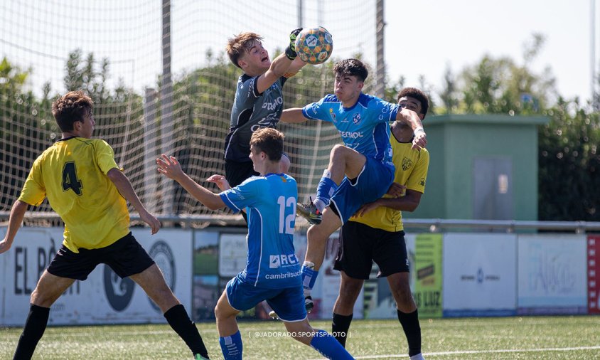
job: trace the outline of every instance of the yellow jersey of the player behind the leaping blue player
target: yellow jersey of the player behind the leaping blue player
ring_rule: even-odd
[[[390,136],[390,144],[392,144],[392,162],[396,166],[394,182],[405,185],[407,189],[424,193],[429,168],[427,149],[412,149],[412,143],[398,142],[394,134]],[[384,197],[390,196],[384,195]],[[360,217],[353,216],[350,221],[385,231],[404,230],[402,211],[385,206],[375,208]]]

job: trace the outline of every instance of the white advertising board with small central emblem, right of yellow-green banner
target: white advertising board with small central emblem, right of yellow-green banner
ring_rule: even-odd
[[[517,236],[444,235],[444,317],[516,314]]]

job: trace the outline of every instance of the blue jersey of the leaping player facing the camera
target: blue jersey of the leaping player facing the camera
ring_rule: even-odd
[[[302,115],[311,120],[332,122],[344,145],[365,157],[392,164],[390,127],[396,120],[400,106],[379,97],[361,93],[353,107],[345,108],[336,95],[326,95],[302,109]]]

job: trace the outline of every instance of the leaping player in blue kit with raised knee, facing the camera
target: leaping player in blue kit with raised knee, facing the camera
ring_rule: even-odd
[[[326,95],[303,108],[286,109],[282,122],[322,120],[331,122],[343,145],[331,150],[328,168],[319,181],[316,198],[298,204],[298,212],[313,224],[306,234],[307,248],[302,265],[305,306],[314,307],[310,292],[325,256],[326,241],[364,203],[390,190],[395,166],[392,163],[389,122],[410,125],[412,146],[424,147],[426,134],[416,112],[363,94],[368,70],[357,59],[341,60],[333,68],[335,95]],[[393,188],[391,189],[393,190]]]

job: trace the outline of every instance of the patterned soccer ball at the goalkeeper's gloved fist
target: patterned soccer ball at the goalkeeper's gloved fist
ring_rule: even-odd
[[[296,53],[305,63],[324,63],[333,51],[331,33],[323,26],[305,28],[296,37]]]

